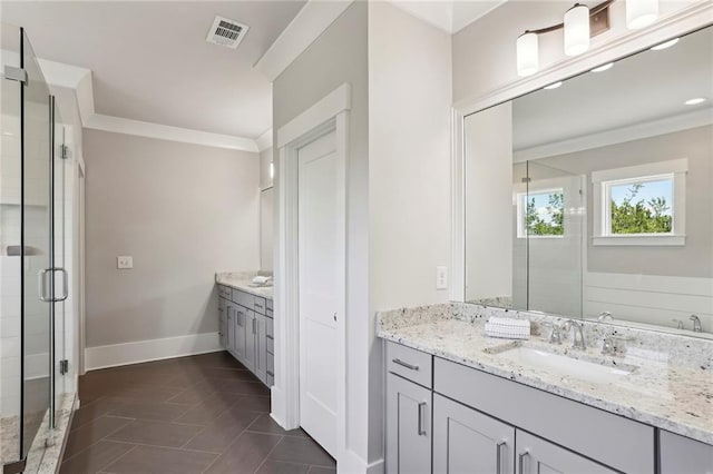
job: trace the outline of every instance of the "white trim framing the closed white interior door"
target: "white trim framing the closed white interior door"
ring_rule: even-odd
[[[279,158],[275,167],[275,385],[272,387],[271,416],[285,429],[300,426],[300,286],[297,150],[334,130],[338,167],[340,257],[343,274],[336,332],[338,458],[346,450],[346,161],[349,158],[349,113],[351,86],[343,83],[277,130]]]

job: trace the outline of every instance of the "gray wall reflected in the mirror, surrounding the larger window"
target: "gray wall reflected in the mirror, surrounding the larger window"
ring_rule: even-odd
[[[713,127],[627,141],[537,160],[587,175],[588,271],[713,277]],[[686,245],[598,247],[592,245],[592,171],[687,158]]]

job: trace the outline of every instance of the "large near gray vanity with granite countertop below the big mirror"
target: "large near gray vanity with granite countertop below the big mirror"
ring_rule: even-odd
[[[484,317],[508,313],[541,337],[486,337]],[[557,318],[508,313],[452,304],[379,315],[387,472],[713,472],[711,342],[678,347],[680,336],[632,329],[617,336],[623,353],[605,356],[602,325],[584,323],[588,347],[576,350],[570,335],[546,337]]]

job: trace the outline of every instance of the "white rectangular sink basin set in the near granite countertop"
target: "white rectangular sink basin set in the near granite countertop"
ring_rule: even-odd
[[[497,357],[533,368],[543,368],[551,374],[598,384],[622,381],[635,368],[625,364],[617,367],[597,364],[526,346],[504,349],[497,354]]]

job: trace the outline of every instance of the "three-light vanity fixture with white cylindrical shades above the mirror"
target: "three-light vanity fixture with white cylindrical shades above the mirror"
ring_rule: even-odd
[[[577,56],[589,49],[590,38],[609,29],[609,6],[615,0],[606,0],[592,9],[575,3],[565,12],[564,21],[547,28],[526,30],[517,39],[517,73],[533,76],[539,69],[537,38],[550,31],[564,30],[565,55]],[[658,0],[626,0],[626,26],[641,29],[658,18]],[[660,45],[660,49],[675,45]]]

